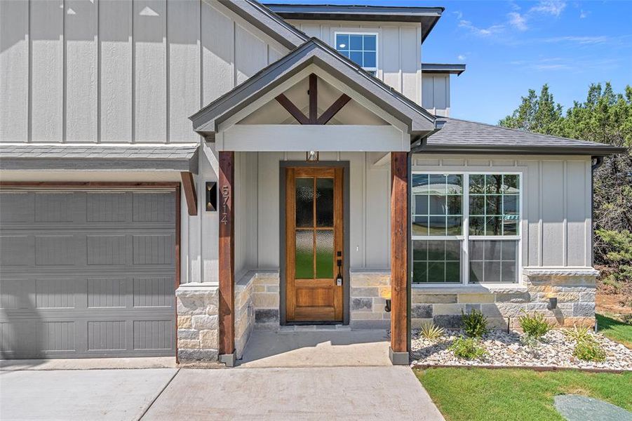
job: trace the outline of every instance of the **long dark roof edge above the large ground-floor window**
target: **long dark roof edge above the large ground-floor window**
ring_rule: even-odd
[[[604,145],[603,147],[585,146],[498,146],[498,145],[420,145],[410,152],[441,154],[525,154],[525,155],[591,155],[608,156],[627,152],[624,147]]]

